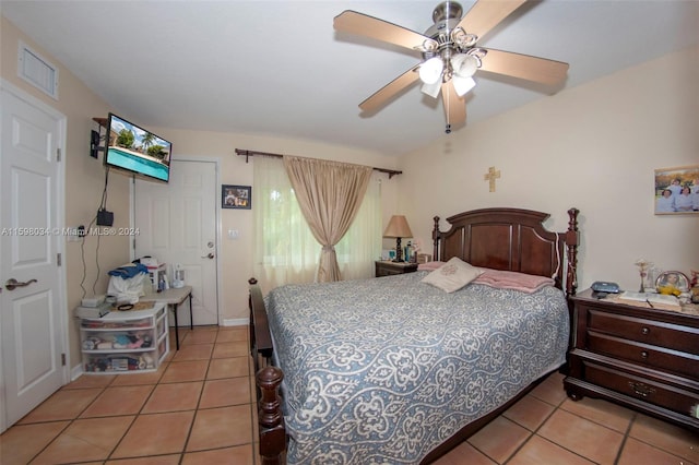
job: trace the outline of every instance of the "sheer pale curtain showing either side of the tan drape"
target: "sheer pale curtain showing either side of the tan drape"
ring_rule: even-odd
[[[280,158],[253,158],[254,277],[268,291],[287,283],[316,279],[321,246],[304,218],[284,163]],[[381,187],[374,174],[359,213],[335,246],[344,279],[374,276],[374,261],[381,255]]]

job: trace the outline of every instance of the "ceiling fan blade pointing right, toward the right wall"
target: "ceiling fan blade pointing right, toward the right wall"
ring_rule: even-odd
[[[566,79],[568,63],[511,51],[486,49],[481,69],[546,85],[556,85]]]

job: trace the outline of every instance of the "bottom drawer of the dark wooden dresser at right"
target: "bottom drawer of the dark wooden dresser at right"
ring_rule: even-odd
[[[665,384],[639,373],[620,371],[618,367],[605,367],[590,361],[585,361],[584,366],[585,381],[629,397],[686,416],[690,416],[692,407],[699,405],[699,392]],[[696,421],[699,426],[699,420]]]

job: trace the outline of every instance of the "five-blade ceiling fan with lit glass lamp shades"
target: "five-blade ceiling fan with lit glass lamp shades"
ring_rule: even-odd
[[[526,0],[478,0],[463,15],[455,1],[443,1],[433,12],[434,24],[419,34],[405,27],[346,10],[335,16],[336,31],[358,34],[399,45],[422,53],[423,61],[388,83],[359,104],[374,111],[401,91],[422,81],[422,92],[441,98],[447,117],[446,132],[466,120],[465,94],[475,86],[473,75],[483,70],[554,86],[566,79],[568,63],[545,58],[483,48],[478,40]]]

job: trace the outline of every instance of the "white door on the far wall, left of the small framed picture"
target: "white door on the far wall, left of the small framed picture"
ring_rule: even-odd
[[[137,179],[134,187],[135,258],[151,255],[185,270],[192,286],[193,323],[218,324],[216,247],[216,164],[173,160],[169,183]],[[180,325],[190,323],[189,308],[178,309]]]

